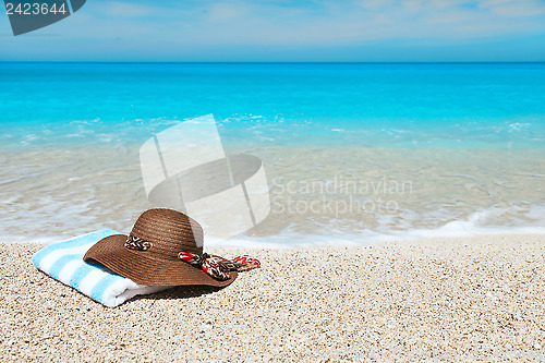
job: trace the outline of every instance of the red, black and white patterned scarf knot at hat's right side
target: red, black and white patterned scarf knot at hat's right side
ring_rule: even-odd
[[[220,281],[230,279],[229,271],[242,271],[261,266],[257,258],[252,258],[250,256],[237,256],[233,259],[225,259],[207,253],[197,255],[194,253],[180,252],[178,257],[195,267],[201,267],[206,274]]]

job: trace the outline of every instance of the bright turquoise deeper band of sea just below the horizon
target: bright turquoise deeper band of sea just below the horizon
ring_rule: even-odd
[[[545,147],[545,63],[2,63],[3,146],[145,140],[214,113],[233,142]]]

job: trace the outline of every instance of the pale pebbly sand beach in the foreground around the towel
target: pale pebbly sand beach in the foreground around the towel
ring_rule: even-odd
[[[107,308],[0,250],[5,361],[543,361],[545,235],[243,251],[261,269]],[[232,256],[237,250],[215,250]]]

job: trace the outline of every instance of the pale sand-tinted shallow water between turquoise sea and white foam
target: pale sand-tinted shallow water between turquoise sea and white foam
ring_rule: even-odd
[[[240,149],[240,152],[244,152]],[[261,148],[270,215],[245,235],[396,234],[464,221],[471,228],[545,226],[543,152]],[[137,147],[3,154],[0,219],[7,240],[128,231],[146,198]],[[471,160],[469,162],[468,160]],[[370,234],[371,233],[371,234]]]

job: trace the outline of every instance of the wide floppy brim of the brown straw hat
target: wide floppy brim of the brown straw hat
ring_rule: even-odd
[[[202,285],[221,288],[238,276],[237,271],[229,271],[228,280],[216,280],[202,268],[180,258],[161,258],[147,251],[129,250],[124,246],[126,238],[114,234],[98,241],[87,251],[83,261],[99,263],[118,275],[146,286]]]

